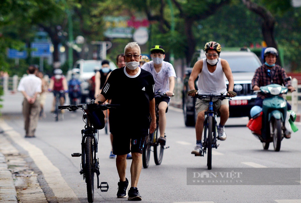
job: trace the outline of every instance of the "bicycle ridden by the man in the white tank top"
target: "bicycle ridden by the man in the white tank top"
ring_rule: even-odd
[[[207,153],[207,166],[210,170],[212,168],[212,148],[216,148],[219,144],[216,143],[217,136],[217,122],[216,116],[217,112],[213,110],[213,98],[218,98],[220,100],[230,99],[221,93],[221,96],[214,96],[214,95],[201,95],[196,94],[195,97],[199,99],[209,98],[209,109],[205,112],[205,121],[204,121],[204,136],[203,136],[203,152],[200,156],[204,156]],[[230,99],[231,100],[231,99]],[[207,133],[208,131],[208,133]],[[197,156],[197,155],[195,155]]]

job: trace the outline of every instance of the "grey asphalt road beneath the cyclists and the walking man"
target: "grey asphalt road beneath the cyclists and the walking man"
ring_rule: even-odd
[[[12,136],[21,153],[33,161],[32,167],[39,171],[40,185],[49,202],[87,202],[86,185],[79,174],[80,157],[71,157],[71,153],[81,150],[81,129],[84,127],[82,112],[65,112],[64,120],[54,121],[50,113],[52,95],[48,94],[45,105],[47,117],[39,121],[36,138],[24,138],[23,118],[21,115],[22,96],[20,93],[3,97],[1,110],[5,122],[16,135]],[[213,150],[212,171],[206,170],[206,156],[195,157],[191,150],[195,145],[195,129],[184,125],[181,110],[170,108],[167,113],[167,143],[162,164],[156,166],[153,153],[149,168],[142,169],[138,189],[143,202],[301,202],[300,167],[301,136],[300,131],[290,139],[284,139],[280,152],[263,150],[262,144],[245,127],[247,118],[230,118],[226,126],[227,140],[218,141],[220,146]],[[301,126],[298,126],[301,128]],[[99,131],[98,156],[100,162],[100,181],[108,182],[108,192],[95,189],[94,202],[120,202],[126,199],[116,198],[119,177],[115,159],[109,159],[110,138],[104,130]],[[131,160],[127,160],[126,177],[130,180]],[[252,174],[248,179],[256,183],[194,183],[189,185],[187,173],[241,172]],[[223,169],[228,168],[228,169]],[[241,169],[242,168],[242,169]],[[257,169],[261,171],[256,171]],[[280,168],[281,177],[273,171]],[[296,172],[290,169],[297,168]],[[283,170],[282,170],[283,169]],[[286,171],[285,171],[286,170]],[[275,176],[273,176],[275,173]],[[274,177],[273,183],[266,183],[266,177]],[[298,177],[296,179],[295,177]],[[281,178],[287,178],[281,182]],[[223,181],[228,179],[223,179]],[[235,178],[231,180],[235,180]],[[294,181],[289,181],[294,180]],[[277,182],[278,181],[278,182]],[[298,182],[299,181],[299,182]],[[96,177],[95,177],[96,182]],[[287,184],[288,185],[285,185]],[[247,184],[247,185],[246,185]],[[279,185],[275,185],[279,184]],[[96,185],[95,185],[96,187]],[[56,200],[51,200],[52,198]]]

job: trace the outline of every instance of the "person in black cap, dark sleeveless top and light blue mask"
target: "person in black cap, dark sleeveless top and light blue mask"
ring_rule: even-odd
[[[112,71],[109,64],[110,62],[108,60],[103,60],[101,62],[101,69],[95,74],[95,98],[101,93],[101,89],[106,82],[107,75]]]

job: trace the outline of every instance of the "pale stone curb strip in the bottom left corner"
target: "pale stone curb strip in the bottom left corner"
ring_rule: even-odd
[[[13,176],[8,170],[5,156],[0,152],[0,203],[2,202],[18,203],[18,200]]]

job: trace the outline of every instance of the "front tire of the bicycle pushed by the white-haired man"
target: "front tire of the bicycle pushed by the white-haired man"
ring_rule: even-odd
[[[85,142],[85,178],[87,183],[88,202],[94,201],[94,152],[91,137],[86,138]]]

